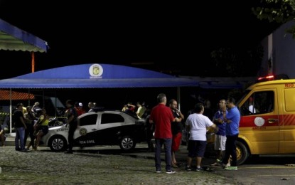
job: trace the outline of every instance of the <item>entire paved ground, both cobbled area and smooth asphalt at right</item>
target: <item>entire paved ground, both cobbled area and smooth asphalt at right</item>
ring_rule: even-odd
[[[254,157],[226,171],[210,166],[215,161],[212,151],[203,159],[207,171],[186,171],[187,150],[176,153],[183,164],[176,174],[156,174],[154,152],[146,152],[145,143],[133,152],[122,152],[118,146],[74,148],[74,154],[51,152],[40,147],[38,152],[16,152],[14,137],[0,147],[0,185],[2,184],[295,184],[294,155]],[[210,148],[210,147],[209,147]],[[210,156],[211,154],[211,156]],[[162,153],[162,169],[164,155]]]

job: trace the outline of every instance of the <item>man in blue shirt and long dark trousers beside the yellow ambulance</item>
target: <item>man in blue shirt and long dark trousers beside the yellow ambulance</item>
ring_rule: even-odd
[[[226,170],[237,170],[237,146],[236,141],[239,136],[239,126],[240,126],[240,110],[235,106],[235,99],[230,97],[227,99],[227,112],[223,111],[223,120],[225,124],[225,157],[222,159],[222,166]],[[231,166],[226,166],[228,160],[232,156]]]

